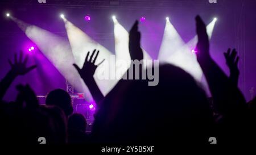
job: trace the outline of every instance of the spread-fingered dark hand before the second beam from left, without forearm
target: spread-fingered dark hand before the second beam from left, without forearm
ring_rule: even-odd
[[[89,58],[90,52],[87,53],[87,55],[85,57],[84,65],[82,66],[82,69],[80,69],[79,66],[77,66],[76,64],[73,64],[73,66],[75,66],[75,68],[79,72],[81,78],[84,79],[85,81],[93,78],[93,75],[94,75],[95,70],[97,69],[98,65],[100,65],[104,61],[104,60],[102,60],[100,62],[100,64],[95,65],[95,62],[96,62],[97,57],[98,57],[98,53],[100,51],[97,51],[96,56],[93,59],[93,56],[94,56],[95,52],[96,52],[96,49],[94,49],[90,58]]]

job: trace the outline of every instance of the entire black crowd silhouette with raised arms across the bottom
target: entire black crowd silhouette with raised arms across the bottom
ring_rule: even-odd
[[[129,33],[131,60],[142,60],[138,21]],[[253,142],[256,99],[246,103],[238,89],[236,49],[224,53],[230,70],[227,76],[210,56],[200,16],[196,16],[196,33],[197,60],[209,85],[210,99],[190,74],[171,64],[158,66],[156,86],[148,86],[147,79],[121,79],[104,97],[93,78],[104,61],[95,64],[99,51],[95,49],[90,57],[88,52],[81,69],[73,64],[97,104],[90,135],[85,132],[84,116],[72,114],[71,97],[64,90],[51,91],[44,106],[28,85],[16,86],[19,93],[13,102],[3,100],[16,77],[36,68],[27,67],[28,57],[23,60],[20,52],[14,62],[9,60],[11,69],[0,82],[1,140],[6,144],[16,139],[38,144],[38,137],[45,137],[47,144],[161,144],[166,140],[170,144],[209,144],[209,137],[216,137],[218,144]]]

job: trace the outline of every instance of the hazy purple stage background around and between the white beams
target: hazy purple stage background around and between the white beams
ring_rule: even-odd
[[[242,78],[240,87],[247,100],[250,99],[249,89],[256,87],[256,11],[255,1],[217,1],[210,4],[207,0],[200,1],[119,1],[119,5],[109,5],[109,1],[99,1],[92,5],[74,5],[72,1],[47,1],[47,5],[38,4],[37,1],[23,3],[24,1],[1,1],[0,9],[0,78],[10,69],[8,58],[14,57],[14,53],[22,49],[27,52],[30,45],[34,45],[19,27],[5,16],[6,11],[11,15],[27,23],[35,24],[45,30],[67,39],[63,21],[59,18],[60,12],[82,31],[86,32],[94,40],[114,53],[114,25],[112,15],[126,30],[129,30],[136,19],[142,16],[146,21],[140,25],[142,32],[142,47],[157,58],[162,41],[166,16],[185,42],[195,36],[195,16],[201,15],[205,23],[210,23],[214,16],[218,20],[213,30],[210,41],[210,52],[214,60],[228,74],[223,52],[226,49],[238,48],[236,39],[244,41],[245,55],[240,60],[245,68],[241,70]],[[27,2],[27,1],[26,1]],[[53,3],[54,2],[54,3]],[[59,3],[57,3],[59,2]],[[63,2],[63,3],[61,3]],[[70,4],[70,5],[69,5]],[[82,4],[82,3],[81,3]],[[85,15],[90,15],[91,20],[86,22]],[[245,36],[236,37],[237,27],[245,30]],[[239,53],[241,51],[238,51]],[[28,53],[28,52],[27,52]],[[8,90],[5,99],[14,100],[16,97],[15,85],[29,83],[37,95],[45,95],[56,88],[65,89],[65,79],[47,58],[36,48],[34,54],[30,54],[30,63],[38,64],[38,69],[26,76],[19,77]],[[242,62],[242,63],[241,63]],[[254,94],[255,95],[255,94]]]

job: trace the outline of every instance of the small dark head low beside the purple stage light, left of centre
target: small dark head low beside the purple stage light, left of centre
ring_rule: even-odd
[[[68,119],[68,129],[72,131],[86,131],[86,119],[82,114],[73,114]]]

